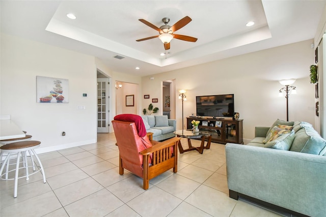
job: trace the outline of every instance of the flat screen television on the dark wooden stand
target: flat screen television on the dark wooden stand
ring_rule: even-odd
[[[196,96],[197,116],[233,117],[234,94]]]

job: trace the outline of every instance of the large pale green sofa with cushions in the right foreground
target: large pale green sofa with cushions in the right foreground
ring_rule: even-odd
[[[266,142],[278,124],[293,129]],[[256,127],[249,144],[228,143],[225,149],[231,198],[249,198],[297,216],[326,215],[326,141],[311,124],[277,120],[271,127]]]

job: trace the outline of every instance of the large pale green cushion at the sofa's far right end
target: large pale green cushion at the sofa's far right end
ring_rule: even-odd
[[[326,141],[311,127],[303,127],[294,135],[290,151],[323,155],[326,151]]]

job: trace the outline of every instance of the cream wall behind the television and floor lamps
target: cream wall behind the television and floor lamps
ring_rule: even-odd
[[[289,96],[289,120],[314,124],[314,86],[310,84],[309,66],[314,62],[313,40],[261,50],[246,55],[189,68],[145,76],[142,93],[158,98],[162,111],[163,80],[176,79],[179,89],[186,89],[184,119],[196,112],[195,97],[234,94],[235,112],[243,119],[243,139],[254,138],[255,126],[269,126],[276,119],[286,119],[286,99],[279,97],[281,79],[296,78],[297,95]],[[150,80],[149,77],[154,77]],[[143,99],[143,107],[148,101]],[[181,129],[181,100],[176,100],[177,128]],[[184,120],[184,124],[186,121]]]

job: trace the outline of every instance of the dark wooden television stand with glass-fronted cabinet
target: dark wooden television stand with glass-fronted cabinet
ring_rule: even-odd
[[[211,133],[211,142],[214,143],[238,143],[243,144],[242,119],[232,120],[231,118],[204,118],[188,117],[187,129],[192,129],[193,120],[200,121],[198,128],[201,132]],[[203,124],[204,122],[204,124]]]

